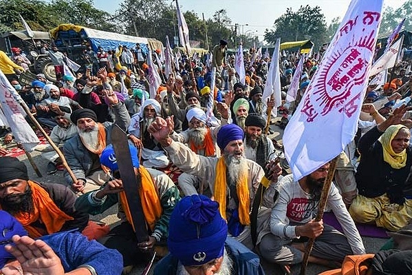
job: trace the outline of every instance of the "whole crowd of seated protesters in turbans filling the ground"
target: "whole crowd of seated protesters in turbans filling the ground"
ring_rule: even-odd
[[[52,51],[55,57],[65,56],[57,48]],[[164,49],[144,51],[140,44],[131,49],[99,47],[97,52],[85,48],[83,66],[71,72],[57,68],[54,83],[37,74],[30,85],[23,85],[8,75],[39,123],[51,131],[76,177],[65,170],[60,181],[44,185],[30,181],[21,161],[0,158],[0,208],[12,214],[30,238],[79,231],[108,251],[117,251],[116,257],[121,254],[124,272],[147,261],[153,249],[166,247],[171,254],[160,253],[166,258],[155,274],[264,274],[259,256],[288,272],[289,265],[301,263],[307,238],[316,238],[309,261],[335,267],[347,255],[365,254],[355,223],[373,223],[393,232],[409,225],[409,62],[398,63],[387,81],[372,82],[367,88],[358,134],[340,154],[327,201],[343,228],[339,232],[313,221],[329,163],[294,181],[288,163],[277,158],[283,145],[268,137],[277,130],[274,125],[288,124],[321,54],[305,57],[296,100],[289,102],[286,97],[301,56],[279,53],[278,118],[270,114],[274,100],[262,100],[269,54],[257,49],[243,53],[244,83],[235,70],[235,54],[228,52],[224,40],[202,56],[171,54],[169,75],[164,54]],[[19,62],[17,69],[29,65],[23,58],[14,61]],[[155,93],[151,93],[153,70],[161,79]],[[265,132],[268,123],[272,127]],[[149,234],[146,241],[135,236],[131,214],[135,210],[129,209],[111,145],[114,125],[127,133]],[[48,161],[47,174],[65,169],[52,147],[41,151]],[[45,203],[51,206],[45,209]],[[98,225],[88,221],[87,214],[100,214],[116,203],[120,225],[97,230]],[[19,249],[40,249],[44,254],[39,256],[36,250],[36,256],[47,258],[43,243],[33,245],[31,239],[16,237],[8,241],[18,248],[3,245],[4,251],[0,250],[10,258],[23,261]],[[246,252],[249,258],[239,256]],[[28,265],[22,263],[23,269]],[[91,269],[102,268],[93,262],[83,265],[91,274],[96,274]],[[8,274],[6,267],[3,274]],[[107,267],[107,274],[115,274],[110,272],[114,268]]]

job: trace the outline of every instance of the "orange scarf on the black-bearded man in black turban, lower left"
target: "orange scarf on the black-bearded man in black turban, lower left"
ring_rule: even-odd
[[[49,193],[47,193],[43,187],[33,181],[28,181],[28,185],[33,192],[34,211],[30,214],[19,213],[15,215],[14,218],[23,225],[30,237],[39,238],[45,234],[56,233],[61,230],[61,227],[63,227],[66,221],[73,220],[71,216],[65,214],[65,212],[57,207],[52,198],[50,198]],[[38,220],[45,225],[47,232],[30,225]]]

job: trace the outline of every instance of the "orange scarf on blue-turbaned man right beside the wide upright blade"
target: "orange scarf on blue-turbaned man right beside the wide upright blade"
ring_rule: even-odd
[[[140,176],[142,176],[142,187],[140,187],[139,196],[142,203],[144,219],[146,220],[147,225],[149,225],[150,230],[153,232],[156,221],[162,216],[162,205],[160,205],[158,192],[155,190],[155,185],[149,172],[141,165],[139,167],[139,172]],[[135,231],[129,205],[127,203],[126,193],[124,193],[124,191],[120,192],[120,203],[122,203],[123,210],[126,213],[127,221],[129,221]]]

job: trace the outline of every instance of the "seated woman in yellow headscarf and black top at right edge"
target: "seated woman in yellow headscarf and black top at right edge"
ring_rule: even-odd
[[[396,231],[412,218],[412,147],[410,120],[402,119],[402,105],[358,143],[360,163],[356,172],[358,196],[349,213],[358,223],[376,223]],[[408,181],[406,181],[408,179]]]

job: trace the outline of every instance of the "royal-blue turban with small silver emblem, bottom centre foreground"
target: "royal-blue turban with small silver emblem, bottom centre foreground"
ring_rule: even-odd
[[[185,196],[169,221],[169,251],[184,266],[204,265],[224,254],[228,225],[219,203],[204,195]]]

